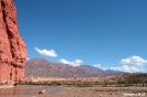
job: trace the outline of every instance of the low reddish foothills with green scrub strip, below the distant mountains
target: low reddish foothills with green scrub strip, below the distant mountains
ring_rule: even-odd
[[[60,78],[59,78],[60,79]],[[99,79],[99,80],[98,80]],[[67,78],[65,80],[38,80],[38,78],[31,77],[18,85],[42,85],[42,86],[74,86],[74,87],[129,87],[147,86],[147,74],[140,73],[126,73],[117,77],[104,77],[104,78]]]

